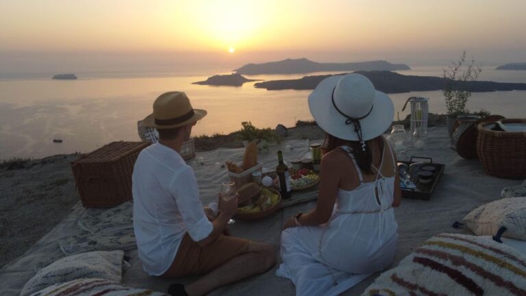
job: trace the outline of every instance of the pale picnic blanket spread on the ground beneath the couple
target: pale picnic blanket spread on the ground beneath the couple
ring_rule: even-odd
[[[267,169],[273,169],[277,164],[275,154],[277,149],[284,151],[286,160],[293,160],[302,158],[308,153],[307,144],[306,140],[286,140],[284,143],[271,146],[268,154],[258,156],[258,161]],[[454,229],[451,224],[454,221],[461,221],[477,206],[500,199],[503,187],[522,183],[518,180],[505,180],[486,175],[481,170],[478,160],[464,160],[449,146],[449,135],[445,127],[431,128],[425,151],[414,151],[409,148],[399,155],[401,160],[409,160],[410,156],[428,156],[433,158],[434,162],[446,164],[446,168],[429,201],[403,199],[401,206],[395,209],[395,218],[399,224],[399,240],[392,267],[431,236],[442,232],[470,233],[465,228]],[[192,167],[197,176],[203,205],[214,201],[221,188],[221,182],[228,180],[227,171],[221,167],[221,163],[225,160],[241,162],[244,152],[242,148],[222,148],[197,153],[196,160],[203,164],[193,163]],[[277,264],[274,269],[262,275],[218,288],[210,295],[295,295],[295,288],[290,280],[275,275],[281,263],[279,258],[281,227],[293,214],[300,211],[307,212],[314,206],[315,201],[308,201],[289,206],[258,221],[237,219],[236,223],[231,225],[232,234],[270,243],[275,247]],[[77,236],[79,232],[84,231],[79,228],[79,220],[85,217],[85,212],[86,209],[82,208],[81,204],[77,204],[62,223],[40,239],[26,254],[0,269],[0,295],[18,295],[25,282],[34,275],[37,264],[49,264],[63,258],[64,253],[58,241],[68,236]],[[93,215],[91,211],[89,213]],[[129,262],[132,267],[123,274],[124,284],[164,292],[169,284],[174,282],[174,280],[150,277],[142,271],[136,249],[126,251],[126,254],[131,258]],[[360,295],[378,275],[379,273],[371,275],[343,295]],[[195,277],[185,277],[178,279],[177,282],[188,283],[192,280],[195,280]]]

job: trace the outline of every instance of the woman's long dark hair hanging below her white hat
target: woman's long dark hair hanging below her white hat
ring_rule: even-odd
[[[360,141],[343,140],[331,134],[326,134],[325,143],[323,143],[323,149],[325,150],[324,153],[328,153],[342,145],[349,146],[351,147],[351,152],[354,155],[356,163],[358,163],[358,167],[360,167],[364,173],[372,174],[373,170],[371,169],[371,164],[373,164],[373,153],[371,151],[371,142],[377,140],[379,137],[381,136],[371,140],[366,140],[365,151],[363,151]]]

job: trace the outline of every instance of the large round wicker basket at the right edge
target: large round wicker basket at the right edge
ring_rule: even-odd
[[[502,123],[526,123],[526,119],[503,119]],[[477,155],[489,175],[508,179],[526,177],[526,132],[489,130],[493,123],[479,123]]]

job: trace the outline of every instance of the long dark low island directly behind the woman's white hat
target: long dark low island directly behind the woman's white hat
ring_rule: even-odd
[[[390,71],[355,71],[373,82],[375,88],[384,93],[409,93],[411,91],[442,90],[444,78],[432,76],[401,75]],[[346,73],[336,74],[345,75]],[[271,80],[254,84],[255,88],[266,90],[312,90],[325,78],[332,75],[305,76],[301,79]],[[459,89],[469,89],[473,93],[497,90],[526,90],[523,83],[466,82],[458,84]]]

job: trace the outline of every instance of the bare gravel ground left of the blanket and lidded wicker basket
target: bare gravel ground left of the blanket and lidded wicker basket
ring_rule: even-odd
[[[79,201],[70,162],[51,156],[0,169],[0,267],[21,256]]]

